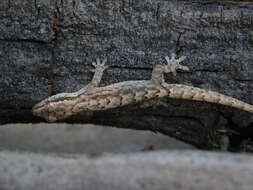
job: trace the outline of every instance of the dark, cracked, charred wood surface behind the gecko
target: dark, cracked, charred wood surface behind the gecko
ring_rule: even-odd
[[[107,57],[111,66],[103,79],[102,85],[107,85],[149,79],[152,67],[165,63],[164,56],[172,52],[187,56],[191,72],[169,75],[168,82],[253,103],[250,1],[3,0],[1,123],[41,122],[31,115],[31,107],[55,93],[82,88],[92,77],[91,62],[97,57]],[[165,101],[168,108],[131,107],[68,122],[150,129],[201,148],[220,148],[230,138],[230,148],[236,149],[251,138],[249,114]]]

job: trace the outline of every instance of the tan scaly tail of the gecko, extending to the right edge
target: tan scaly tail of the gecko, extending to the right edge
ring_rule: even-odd
[[[170,98],[210,102],[253,113],[253,105],[218,92],[176,84],[167,84],[164,87]]]

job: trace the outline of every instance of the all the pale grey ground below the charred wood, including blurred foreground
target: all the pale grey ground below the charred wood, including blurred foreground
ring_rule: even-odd
[[[251,190],[253,157],[161,134],[67,124],[0,126],[2,190]],[[175,150],[176,149],[176,150]]]

